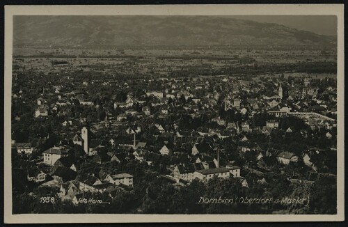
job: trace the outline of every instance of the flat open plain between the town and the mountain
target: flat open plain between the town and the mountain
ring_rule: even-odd
[[[174,76],[232,75],[262,72],[335,72],[336,52],[329,50],[258,50],[212,47],[191,49],[87,47],[15,47],[14,70],[58,73],[84,70],[111,75]],[[322,69],[318,69],[317,65]],[[309,69],[309,70],[308,70]]]

